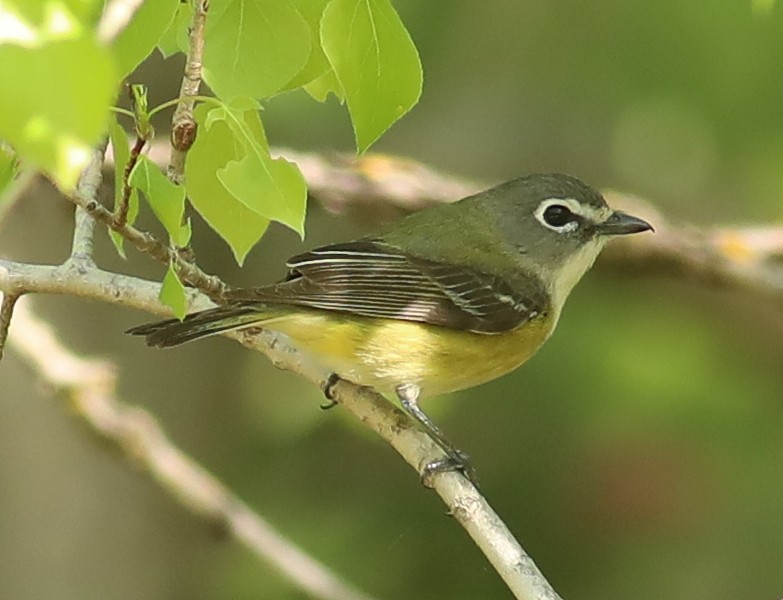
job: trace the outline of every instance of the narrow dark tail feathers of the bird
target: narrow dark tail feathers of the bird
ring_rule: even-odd
[[[128,329],[130,335],[143,335],[147,345],[170,348],[185,342],[197,340],[222,331],[249,327],[269,318],[264,305],[229,305],[193,313],[179,319],[167,319],[156,323],[145,323]]]

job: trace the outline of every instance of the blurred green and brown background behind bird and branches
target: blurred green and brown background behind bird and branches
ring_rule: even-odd
[[[783,217],[783,5],[729,0],[396,0],[424,94],[375,147],[463,177],[563,171],[675,222]],[[181,61],[138,79],[176,94]],[[274,144],[348,151],[345,111],[269,102]],[[149,223],[148,223],[149,224]],[[35,194],[0,230],[61,261],[70,210]],[[362,233],[313,205],[304,246]],[[35,232],[31,243],[30,232]],[[161,277],[131,252],[101,265]],[[196,223],[205,269],[272,281],[304,246],[273,228],[240,271]],[[116,362],[122,398],[303,548],[379,598],[507,598],[436,496],[294,375],[225,339],[168,351],[122,335],[149,315],[36,298],[62,338]],[[13,335],[13,328],[12,328]],[[682,279],[599,266],[528,364],[433,399],[482,489],[565,598],[783,596],[783,314]],[[13,353],[0,367],[0,598],[304,596],[105,452]]]

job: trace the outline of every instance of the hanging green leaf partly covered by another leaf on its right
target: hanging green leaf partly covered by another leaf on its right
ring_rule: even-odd
[[[191,204],[228,243],[241,265],[266,231],[269,220],[242,204],[218,179],[218,169],[231,160],[241,159],[246,152],[227,121],[208,121],[208,112],[211,111],[204,105],[195,111],[197,121],[203,125],[185,165],[187,193]]]

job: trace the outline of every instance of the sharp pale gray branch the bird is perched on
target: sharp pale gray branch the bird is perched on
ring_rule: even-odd
[[[58,269],[0,259],[0,290],[64,293],[156,313],[166,312],[157,300],[159,286],[155,282],[98,269],[82,274],[78,279],[64,278]],[[191,307],[196,310],[210,305],[204,296],[196,296],[191,303]],[[238,331],[226,335],[263,352],[275,365],[298,373],[316,385],[321,385],[328,376],[320,366],[274,332]],[[340,382],[335,394],[349,411],[386,439],[418,472],[424,465],[443,457],[429,436],[418,429],[407,414],[374,391],[349,382]],[[558,598],[486,500],[462,476],[454,473],[437,475],[433,478],[433,485],[458,522],[477,540],[479,547],[488,553],[492,564],[498,568],[514,593],[518,594],[517,598]]]

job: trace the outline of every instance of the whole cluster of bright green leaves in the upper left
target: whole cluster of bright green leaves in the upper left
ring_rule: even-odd
[[[112,103],[156,48],[164,55],[188,50],[193,6],[144,2],[108,43],[97,33],[102,6],[99,0],[0,3],[0,139],[15,151],[0,165],[0,183],[15,158],[72,193],[93,147],[109,137],[117,159],[115,207],[126,202],[132,224],[141,192],[176,247],[190,241],[185,197],[240,264],[270,221],[304,235],[306,186],[294,164],[270,153],[259,113],[266,100],[295,89],[319,101],[329,94],[345,100],[363,152],[421,92],[418,54],[390,0],[213,0],[203,77],[215,96],[198,97],[200,134],[184,188],[177,188],[152,162],[129,154],[112,116],[122,111]],[[142,142],[148,137],[143,121],[172,104],[137,108]],[[122,255],[121,239],[112,239]],[[184,291],[178,296],[177,290],[184,288],[172,277],[170,267],[164,297],[182,313]]]

